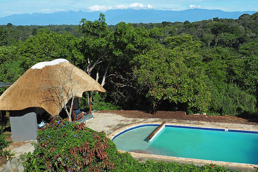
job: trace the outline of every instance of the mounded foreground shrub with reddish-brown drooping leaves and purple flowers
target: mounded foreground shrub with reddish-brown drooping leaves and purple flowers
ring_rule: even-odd
[[[98,171],[114,169],[116,164],[106,153],[110,140],[105,133],[91,130],[83,123],[54,118],[38,131],[37,140],[31,159],[25,163],[28,171],[43,171],[42,165],[48,171]]]

